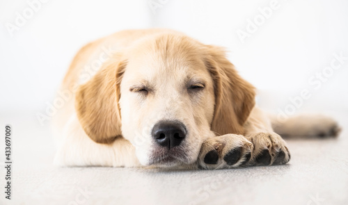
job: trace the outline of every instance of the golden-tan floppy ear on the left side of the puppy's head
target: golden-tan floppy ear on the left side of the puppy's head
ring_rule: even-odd
[[[106,63],[76,93],[75,109],[87,135],[98,143],[111,143],[121,136],[120,81],[126,62]]]

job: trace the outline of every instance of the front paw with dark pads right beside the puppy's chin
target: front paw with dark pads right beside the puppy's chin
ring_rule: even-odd
[[[246,166],[253,155],[253,144],[244,136],[227,134],[203,142],[198,156],[202,169],[222,169]]]

